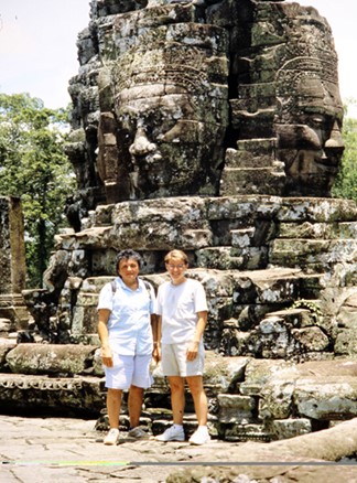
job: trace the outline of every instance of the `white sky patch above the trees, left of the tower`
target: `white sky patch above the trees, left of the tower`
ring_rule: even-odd
[[[0,0],[0,93],[66,107],[77,35],[88,22],[89,0]]]

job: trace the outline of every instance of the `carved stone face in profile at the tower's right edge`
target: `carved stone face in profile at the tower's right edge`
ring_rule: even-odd
[[[295,99],[295,122],[277,125],[278,157],[285,164],[286,194],[325,196],[344,151],[342,109],[322,82],[313,79],[311,85],[312,93],[320,94],[314,103],[304,105],[303,97]]]

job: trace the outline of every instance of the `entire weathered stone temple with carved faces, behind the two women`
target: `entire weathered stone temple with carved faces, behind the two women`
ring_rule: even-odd
[[[96,304],[115,256],[140,251],[158,287],[181,248],[209,302],[217,437],[356,417],[357,207],[331,196],[344,143],[326,19],[288,1],[91,0],[77,46],[71,229],[45,288],[19,290],[37,343],[0,348],[1,402],[21,407],[28,391],[34,407],[99,414]],[[154,374],[144,417],[156,432],[170,401]]]

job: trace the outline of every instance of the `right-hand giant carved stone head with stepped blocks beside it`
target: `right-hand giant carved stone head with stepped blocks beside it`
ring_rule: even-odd
[[[230,127],[238,149],[226,152],[220,194],[328,196],[343,153],[343,106],[326,20],[290,2],[245,1],[227,11],[234,25]],[[256,146],[267,139],[274,155],[257,165]],[[256,142],[244,152],[244,140]]]

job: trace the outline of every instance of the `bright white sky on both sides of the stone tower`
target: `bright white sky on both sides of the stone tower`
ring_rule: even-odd
[[[237,0],[238,1],[238,0]],[[300,0],[326,17],[338,55],[343,100],[357,98],[357,0]],[[76,40],[88,25],[89,0],[0,0],[0,93],[29,93],[65,107],[78,72]],[[357,106],[348,111],[357,117]]]

